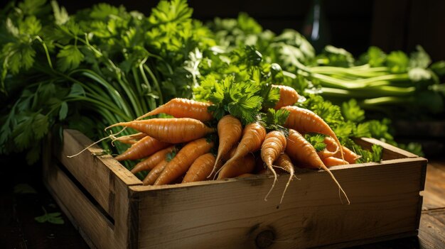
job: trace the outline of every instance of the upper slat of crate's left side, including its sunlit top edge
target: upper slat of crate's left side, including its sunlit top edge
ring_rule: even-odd
[[[100,206],[114,218],[114,199],[117,192],[115,183],[133,185],[142,182],[110,155],[101,155],[102,149],[97,145],[88,148],[80,155],[68,157],[92,144],[92,140],[79,131],[65,130],[63,139],[60,153],[56,156]]]

